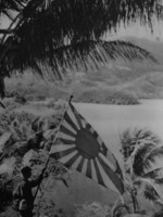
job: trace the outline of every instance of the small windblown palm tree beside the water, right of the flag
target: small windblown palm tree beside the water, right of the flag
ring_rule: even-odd
[[[122,150],[125,163],[126,188],[130,191],[134,209],[138,209],[136,199],[138,190],[145,197],[163,204],[160,184],[163,183],[163,167],[156,161],[163,156],[161,140],[150,130],[126,130],[122,138]]]

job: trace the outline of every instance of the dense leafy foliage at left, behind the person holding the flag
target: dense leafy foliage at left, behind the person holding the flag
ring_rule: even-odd
[[[12,111],[1,114],[0,193],[3,196],[1,196],[0,212],[12,203],[12,193],[22,179],[20,176],[22,166],[29,165],[35,177],[46,165],[60,118],[60,115],[41,118],[25,112]],[[67,187],[68,174],[68,169],[51,159],[45,178],[61,180]]]

